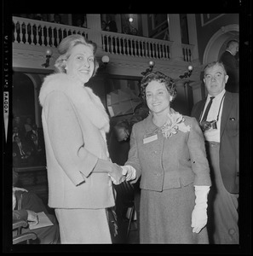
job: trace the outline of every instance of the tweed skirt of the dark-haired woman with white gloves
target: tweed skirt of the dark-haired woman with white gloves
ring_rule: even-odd
[[[209,243],[204,227],[193,233],[193,184],[162,192],[141,189],[140,243]]]

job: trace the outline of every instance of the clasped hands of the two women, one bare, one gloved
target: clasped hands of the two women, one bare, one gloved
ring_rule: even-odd
[[[111,177],[112,183],[118,185],[125,180],[135,179],[136,171],[132,166],[118,166],[109,160],[98,160],[95,166],[95,172],[107,172]]]

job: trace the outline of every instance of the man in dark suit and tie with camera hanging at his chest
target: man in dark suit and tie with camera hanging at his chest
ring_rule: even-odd
[[[239,94],[225,90],[228,75],[223,64],[204,67],[208,96],[193,106],[204,131],[212,187],[209,194],[208,230],[210,243],[238,244],[239,200]],[[214,98],[213,98],[214,97]],[[205,109],[212,99],[207,118]]]

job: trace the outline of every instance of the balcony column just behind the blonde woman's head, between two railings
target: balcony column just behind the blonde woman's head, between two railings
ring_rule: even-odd
[[[97,44],[98,49],[102,49],[101,15],[87,14],[87,27],[90,29],[89,40]]]

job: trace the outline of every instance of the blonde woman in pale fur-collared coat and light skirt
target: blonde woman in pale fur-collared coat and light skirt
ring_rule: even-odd
[[[115,205],[112,180],[119,183],[123,175],[106,147],[105,108],[84,85],[98,67],[96,45],[76,34],[58,50],[58,73],[46,77],[39,95],[49,207],[55,208],[61,243],[112,243],[107,208]]]

